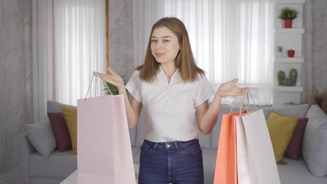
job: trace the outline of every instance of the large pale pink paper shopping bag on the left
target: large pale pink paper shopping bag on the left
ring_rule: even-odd
[[[78,184],[136,183],[123,95],[78,100]]]

